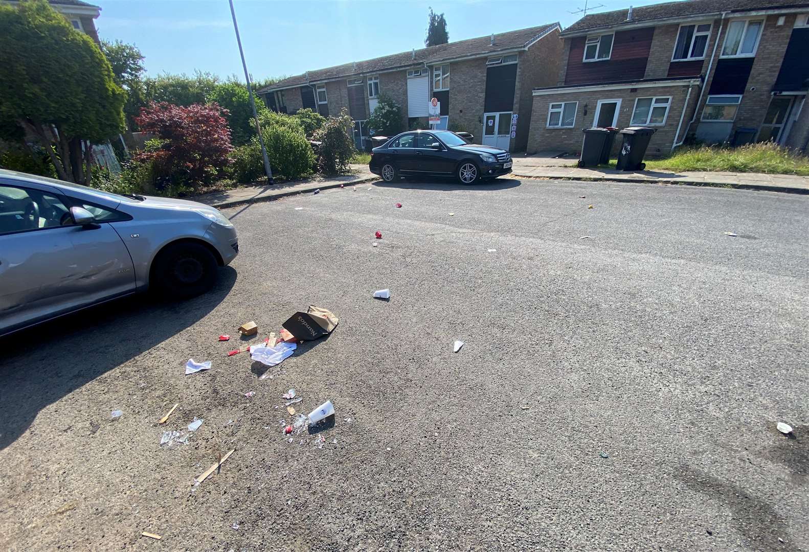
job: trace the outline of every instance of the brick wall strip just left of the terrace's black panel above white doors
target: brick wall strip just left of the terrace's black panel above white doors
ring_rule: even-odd
[[[464,130],[481,143],[483,100],[486,95],[486,58],[450,64],[450,129]]]

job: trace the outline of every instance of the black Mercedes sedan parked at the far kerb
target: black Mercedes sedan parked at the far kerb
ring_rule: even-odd
[[[416,130],[374,148],[368,168],[385,182],[400,176],[455,176],[473,184],[511,172],[511,155],[489,145],[469,144],[449,130]]]

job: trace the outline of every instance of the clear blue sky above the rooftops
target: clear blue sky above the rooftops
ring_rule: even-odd
[[[150,75],[210,71],[242,74],[227,0],[100,0],[95,20],[105,40],[135,44]],[[595,11],[656,2],[591,0]],[[548,0],[234,0],[244,54],[254,79],[301,74],[330,65],[423,48],[428,8],[447,18],[450,40],[558,21],[581,2]]]

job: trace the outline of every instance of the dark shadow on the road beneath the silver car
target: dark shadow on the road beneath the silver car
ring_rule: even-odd
[[[205,317],[235,281],[220,268],[214,289],[188,301],[127,297],[0,339],[0,450],[44,407]]]

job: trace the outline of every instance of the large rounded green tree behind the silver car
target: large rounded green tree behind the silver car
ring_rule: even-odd
[[[124,127],[107,58],[44,0],[0,6],[0,28],[0,120],[36,136],[60,179],[89,183],[91,142]]]

